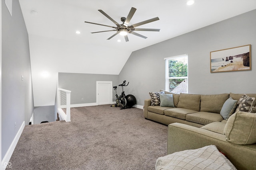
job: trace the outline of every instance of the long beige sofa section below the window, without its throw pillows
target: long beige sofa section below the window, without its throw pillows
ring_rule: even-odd
[[[244,94],[173,94],[160,90],[164,94],[172,94],[174,107],[152,106],[152,100],[144,101],[144,117],[165,125],[183,123],[194,127],[202,127],[212,122],[226,123],[220,115],[222,106],[230,97],[239,100]],[[246,94],[256,98],[256,94]],[[255,107],[256,100],[252,106]]]

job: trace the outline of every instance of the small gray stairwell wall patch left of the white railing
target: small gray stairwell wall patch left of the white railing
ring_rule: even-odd
[[[42,121],[55,121],[54,106],[39,106],[34,108],[34,124]]]

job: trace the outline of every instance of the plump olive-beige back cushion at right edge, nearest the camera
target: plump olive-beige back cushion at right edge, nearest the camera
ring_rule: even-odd
[[[224,128],[226,141],[238,145],[256,143],[256,114],[238,111],[230,116]]]

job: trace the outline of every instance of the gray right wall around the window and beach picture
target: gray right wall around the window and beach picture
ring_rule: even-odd
[[[189,93],[256,93],[255,16],[253,10],[134,51],[119,74],[119,82],[130,81],[127,94],[133,94],[143,106],[148,92],[165,88],[164,58],[188,54]],[[252,45],[252,70],[210,73],[211,51],[248,44]]]

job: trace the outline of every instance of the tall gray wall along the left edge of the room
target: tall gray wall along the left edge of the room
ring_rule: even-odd
[[[25,125],[28,125],[34,109],[28,32],[19,1],[12,1],[12,16],[4,2],[4,0],[1,2],[2,158],[22,123],[25,121]]]

